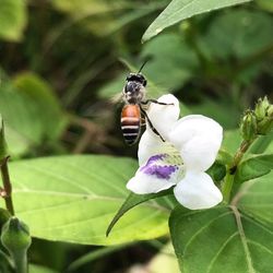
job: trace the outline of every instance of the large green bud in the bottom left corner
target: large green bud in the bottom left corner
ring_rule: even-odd
[[[11,217],[2,227],[1,241],[11,256],[26,251],[32,244],[28,227],[17,217]]]

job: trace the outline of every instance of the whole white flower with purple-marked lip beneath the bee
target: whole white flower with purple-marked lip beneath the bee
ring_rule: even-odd
[[[171,95],[152,104],[147,115],[165,142],[147,126],[139,144],[140,168],[127,188],[134,193],[156,193],[173,186],[179,203],[191,210],[218,204],[222,193],[205,174],[223,139],[222,127],[211,118],[190,115],[178,120],[179,102]]]

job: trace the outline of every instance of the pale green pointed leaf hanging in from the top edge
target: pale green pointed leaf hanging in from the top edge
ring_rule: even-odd
[[[168,7],[158,15],[158,17],[156,17],[156,20],[149,26],[142,39],[151,39],[153,36],[161,33],[164,28],[193,15],[239,3],[245,3],[248,1],[249,0],[173,0],[168,4]]]

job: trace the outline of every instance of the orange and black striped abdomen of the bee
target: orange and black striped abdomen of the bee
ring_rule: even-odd
[[[124,105],[121,111],[121,130],[128,145],[134,144],[140,136],[141,111],[139,105]]]

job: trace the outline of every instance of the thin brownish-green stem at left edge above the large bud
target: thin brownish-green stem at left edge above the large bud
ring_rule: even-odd
[[[8,168],[8,161],[9,156],[4,157],[0,164],[0,170],[2,176],[2,182],[3,182],[3,193],[2,197],[5,202],[5,207],[10,212],[11,215],[14,215],[14,207],[12,202],[12,186],[9,175],[9,168]]]

